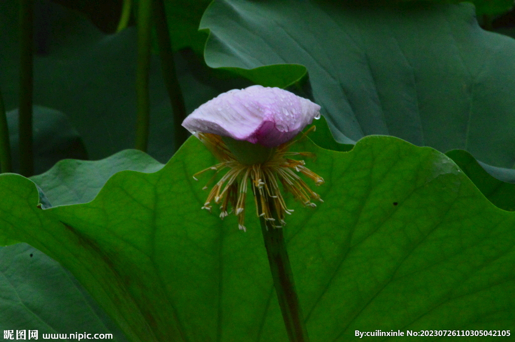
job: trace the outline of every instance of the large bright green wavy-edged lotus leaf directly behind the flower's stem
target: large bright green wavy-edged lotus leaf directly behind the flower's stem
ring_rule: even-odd
[[[307,166],[326,182],[315,209],[287,197],[287,247],[312,341],[510,329],[514,213],[431,148],[385,136],[350,152],[307,139],[296,148],[316,153]],[[119,172],[92,202],[45,210],[31,181],[0,175],[0,229],[70,269],[130,340],[286,340],[251,200],[246,233],[233,216],[200,210],[210,175],[192,175],[213,163],[190,138],[156,173]]]

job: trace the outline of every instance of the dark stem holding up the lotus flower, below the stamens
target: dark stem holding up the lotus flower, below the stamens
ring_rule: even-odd
[[[258,204],[261,203],[259,191],[255,191]],[[272,217],[277,218],[274,206],[270,206]],[[260,209],[261,212],[261,209]],[[261,230],[265,241],[268,263],[272,274],[273,285],[276,287],[279,306],[283,315],[284,325],[290,342],[308,342],[304,317],[295,291],[295,282],[291,265],[286,251],[283,229],[273,228],[264,218],[260,218]]]

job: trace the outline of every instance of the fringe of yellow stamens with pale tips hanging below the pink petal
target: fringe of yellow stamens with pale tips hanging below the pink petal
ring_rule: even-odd
[[[314,127],[308,130],[301,138],[312,130],[314,130]],[[256,214],[258,217],[262,217],[270,222],[272,227],[283,227],[286,224],[284,221],[285,213],[290,215],[294,211],[286,207],[278,181],[281,182],[285,191],[291,192],[295,199],[300,201],[304,206],[316,207],[311,200],[323,202],[320,196],[313,192],[296,172],[313,179],[315,185],[323,184],[323,178],[306,168],[304,166],[304,160],[295,160],[286,157],[294,155],[315,157],[315,155],[310,152],[288,152],[289,147],[295,143],[296,140],[286,142],[279,146],[276,153],[274,153],[269,160],[265,161],[265,163],[243,165],[238,162],[220,136],[210,133],[199,133],[199,138],[219,160],[222,160],[221,163],[197,172],[193,176],[193,178],[197,180],[197,176],[206,171],[216,171],[203,189],[207,189],[208,186],[213,183],[221,170],[225,168],[229,169],[211,188],[202,209],[211,211],[212,202],[220,204],[221,219],[224,219],[234,211],[238,218],[239,229],[246,231],[244,219],[249,180],[254,194]],[[256,194],[259,194],[259,196],[256,196]],[[260,203],[258,203],[258,199],[260,199]],[[233,208],[230,212],[228,212],[229,204]],[[273,210],[271,210],[272,208]],[[277,216],[273,217],[272,212]]]

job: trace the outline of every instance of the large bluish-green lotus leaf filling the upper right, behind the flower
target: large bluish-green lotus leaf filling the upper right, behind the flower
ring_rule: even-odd
[[[242,74],[304,65],[340,142],[393,135],[511,168],[515,41],[481,29],[468,3],[362,3],[215,0],[205,60]]]

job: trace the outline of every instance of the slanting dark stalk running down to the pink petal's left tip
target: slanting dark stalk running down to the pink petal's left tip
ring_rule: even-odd
[[[168,90],[171,109],[174,113],[174,142],[175,149],[177,150],[188,137],[187,131],[181,126],[182,121],[186,118],[186,106],[184,105],[184,98],[182,96],[181,87],[175,71],[174,52],[171,48],[163,0],[155,0],[154,16],[158,37],[159,56],[161,57],[161,67],[163,70],[163,79],[166,89]]]

